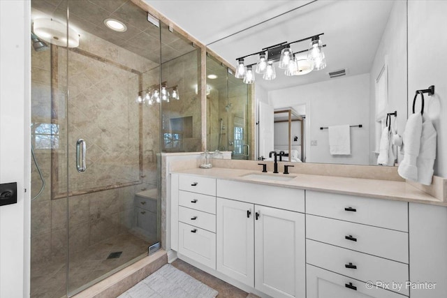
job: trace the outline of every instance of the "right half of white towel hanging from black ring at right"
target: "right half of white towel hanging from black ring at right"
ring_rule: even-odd
[[[423,117],[422,133],[420,135],[419,156],[416,160],[418,167],[418,182],[432,184],[433,165],[436,158],[437,133],[432,121]]]

